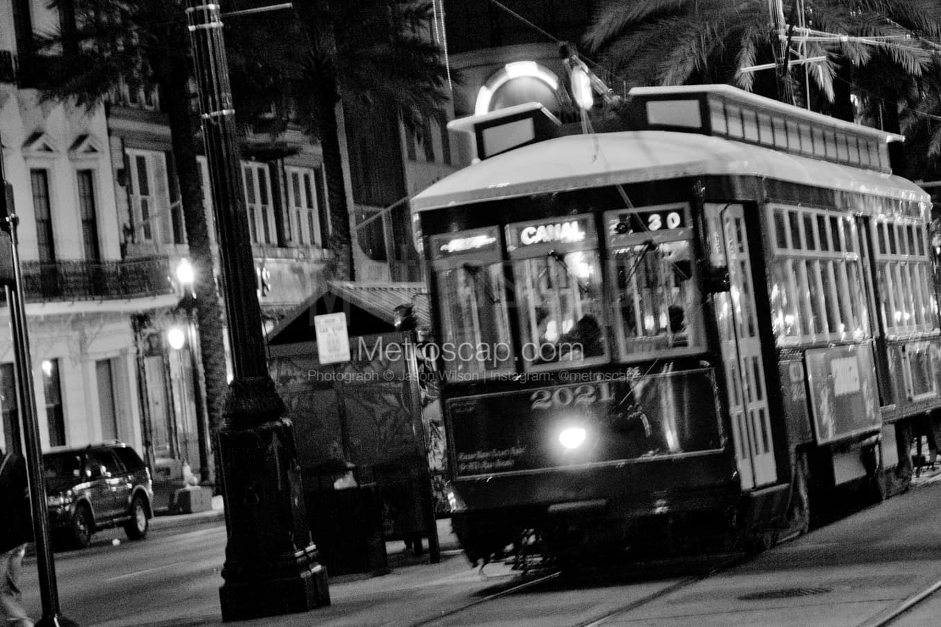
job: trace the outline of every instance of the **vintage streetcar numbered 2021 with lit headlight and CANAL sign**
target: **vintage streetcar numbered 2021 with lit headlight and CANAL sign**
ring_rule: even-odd
[[[621,120],[455,120],[475,163],[412,200],[474,563],[766,548],[905,489],[941,406],[900,135],[732,86],[634,88]]]

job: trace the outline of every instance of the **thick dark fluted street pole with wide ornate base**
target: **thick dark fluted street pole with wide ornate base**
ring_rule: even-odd
[[[267,371],[219,5],[186,0],[186,19],[234,375],[217,434],[228,531],[222,619],[304,612],[330,603],[327,571],[307,525],[294,430]]]

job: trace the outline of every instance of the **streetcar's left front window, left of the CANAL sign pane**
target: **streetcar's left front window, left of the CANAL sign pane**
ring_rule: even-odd
[[[432,238],[440,359],[452,381],[514,368],[499,235],[492,227]]]

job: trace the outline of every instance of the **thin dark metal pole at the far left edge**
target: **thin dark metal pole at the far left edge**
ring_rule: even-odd
[[[40,579],[40,601],[42,618],[38,627],[74,627],[70,619],[61,616],[56,587],[56,563],[53,560],[52,542],[49,538],[49,511],[46,509],[46,485],[42,475],[42,448],[40,446],[40,424],[36,415],[36,396],[33,385],[33,361],[29,353],[29,332],[26,329],[26,311],[23,298],[23,270],[20,267],[20,245],[16,227],[20,218],[8,201],[4,178],[3,152],[0,150],[0,257],[6,258],[3,265],[2,282],[7,296],[10,330],[13,339],[13,360],[16,371],[16,398],[23,421],[23,440],[26,458],[26,478],[29,483],[29,502],[33,510],[33,541],[36,542],[36,570]],[[10,195],[12,196],[12,195]],[[12,273],[9,272],[12,270]],[[12,276],[9,276],[12,274]],[[10,285],[12,279],[12,286]],[[20,443],[15,443],[16,447]]]

